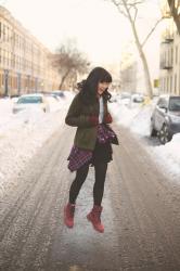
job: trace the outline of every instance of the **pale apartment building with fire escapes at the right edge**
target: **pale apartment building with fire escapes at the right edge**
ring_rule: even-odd
[[[167,4],[163,12],[165,29],[160,43],[159,91],[180,95],[180,35]]]

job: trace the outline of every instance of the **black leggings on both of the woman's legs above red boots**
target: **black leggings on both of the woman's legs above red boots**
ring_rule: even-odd
[[[93,185],[93,202],[94,205],[101,206],[101,202],[103,198],[104,193],[104,182],[105,182],[105,176],[107,170],[107,163],[100,162],[94,165],[95,170],[95,182]],[[76,178],[74,182],[72,183],[70,190],[69,190],[69,203],[75,204],[76,198],[79,194],[79,191],[88,176],[89,171],[89,164],[83,165],[81,168],[79,168],[76,171]]]

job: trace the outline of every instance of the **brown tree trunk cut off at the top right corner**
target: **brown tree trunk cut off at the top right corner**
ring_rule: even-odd
[[[170,9],[170,14],[177,25],[180,35],[180,0],[167,0]]]

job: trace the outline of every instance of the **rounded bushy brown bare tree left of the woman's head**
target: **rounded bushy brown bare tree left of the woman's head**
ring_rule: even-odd
[[[77,49],[76,43],[68,40],[53,55],[52,65],[59,69],[61,75],[59,89],[62,89],[65,81],[73,81],[73,78],[76,80],[78,75],[86,74],[89,62]]]

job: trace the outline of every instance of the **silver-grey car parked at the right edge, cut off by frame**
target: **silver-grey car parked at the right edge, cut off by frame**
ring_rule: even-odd
[[[151,116],[151,137],[157,136],[160,143],[171,140],[180,132],[180,95],[160,95]]]

